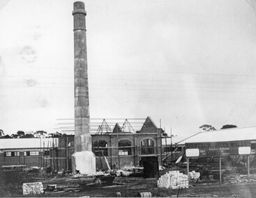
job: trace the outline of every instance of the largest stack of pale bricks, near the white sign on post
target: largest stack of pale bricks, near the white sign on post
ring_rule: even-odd
[[[179,171],[170,171],[158,179],[158,188],[188,188],[188,175]]]

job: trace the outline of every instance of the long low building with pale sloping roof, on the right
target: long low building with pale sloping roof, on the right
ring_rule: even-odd
[[[239,147],[250,147],[250,154],[255,154],[256,127],[200,132],[179,144],[186,149],[199,149],[199,157],[236,156]]]

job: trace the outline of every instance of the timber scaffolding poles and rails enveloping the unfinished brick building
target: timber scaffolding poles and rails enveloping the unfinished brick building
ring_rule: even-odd
[[[49,160],[46,165],[48,167],[50,165],[54,171],[70,171],[71,156],[74,152],[74,119],[57,120],[59,122],[57,130],[64,135],[59,138],[58,147],[53,147],[50,150],[50,157],[45,157],[45,160]],[[162,164],[163,155],[166,154],[166,152],[164,153],[166,149],[162,147],[164,131],[156,127],[149,117],[146,119],[91,120],[92,151],[96,155],[98,169],[107,169],[105,158],[111,168],[121,168],[123,165],[139,166],[142,158],[158,160]],[[140,133],[148,126],[149,128],[153,126],[156,130]],[[144,139],[146,139],[145,142],[143,142]]]

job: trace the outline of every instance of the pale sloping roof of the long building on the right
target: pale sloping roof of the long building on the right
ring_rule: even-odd
[[[199,132],[177,143],[178,145],[183,145],[193,142],[229,142],[239,140],[256,140],[256,126]]]

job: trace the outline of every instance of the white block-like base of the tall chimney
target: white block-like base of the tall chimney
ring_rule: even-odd
[[[92,151],[80,151],[71,156],[72,172],[76,174],[95,174],[96,173],[96,158]]]

